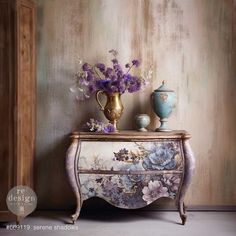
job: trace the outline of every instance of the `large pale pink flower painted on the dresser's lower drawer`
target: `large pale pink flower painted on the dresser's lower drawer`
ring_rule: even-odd
[[[163,187],[162,182],[159,180],[150,181],[148,186],[145,186],[142,189],[143,192],[143,200],[150,204],[157,200],[160,197],[168,197],[168,188]]]

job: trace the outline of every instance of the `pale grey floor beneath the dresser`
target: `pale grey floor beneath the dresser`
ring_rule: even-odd
[[[236,236],[236,212],[188,212],[185,226],[177,212],[106,211],[82,213],[76,224],[68,212],[36,212],[16,225],[1,225],[0,235],[67,236]],[[6,229],[8,227],[8,229]]]

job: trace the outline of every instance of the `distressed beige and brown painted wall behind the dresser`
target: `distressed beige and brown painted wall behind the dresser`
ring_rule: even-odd
[[[74,204],[64,170],[68,134],[89,117],[104,119],[95,99],[69,92],[78,57],[154,67],[152,85],[122,96],[120,128],[136,113],[152,117],[150,93],[162,80],[177,92],[169,125],[192,134],[197,163],[187,203],[236,205],[236,2],[232,0],[38,0],[37,183],[40,208]]]

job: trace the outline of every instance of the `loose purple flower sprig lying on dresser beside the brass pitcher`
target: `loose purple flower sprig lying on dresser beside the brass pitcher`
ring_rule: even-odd
[[[84,124],[83,128],[85,131],[90,131],[90,132],[102,132],[102,133],[115,132],[115,127],[112,124],[110,123],[104,124],[103,122],[92,118]]]

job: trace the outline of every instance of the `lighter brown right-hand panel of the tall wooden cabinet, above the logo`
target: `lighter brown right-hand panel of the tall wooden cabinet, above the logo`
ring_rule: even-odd
[[[35,7],[31,1],[17,2],[17,183],[33,186],[35,152]]]

